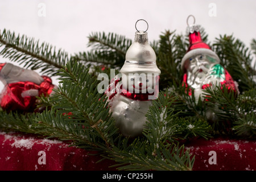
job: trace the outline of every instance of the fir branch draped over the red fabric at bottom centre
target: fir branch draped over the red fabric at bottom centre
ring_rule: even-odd
[[[189,150],[185,151],[184,146],[158,144],[158,153],[152,154],[152,148],[146,143],[134,142],[128,148],[112,152],[108,159],[115,160],[118,164],[111,167],[118,167],[119,170],[159,170],[159,171],[191,171],[195,156],[191,157]],[[130,151],[130,152],[127,152]]]

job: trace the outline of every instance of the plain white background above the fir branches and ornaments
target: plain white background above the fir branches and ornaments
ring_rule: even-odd
[[[216,16],[212,16],[212,4]],[[92,32],[114,32],[134,39],[138,19],[147,20],[150,42],[165,30],[184,34],[190,14],[205,28],[210,42],[219,35],[233,34],[249,46],[256,38],[255,0],[0,0],[0,30],[26,34],[76,53],[88,50]],[[0,63],[8,61],[0,56]]]

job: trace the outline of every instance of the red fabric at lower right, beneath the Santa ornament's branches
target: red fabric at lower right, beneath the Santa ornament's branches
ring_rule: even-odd
[[[187,143],[186,148],[189,148],[190,153],[195,155],[194,171],[256,170],[255,140],[197,139]],[[212,163],[213,154],[210,151],[215,152],[216,164]]]

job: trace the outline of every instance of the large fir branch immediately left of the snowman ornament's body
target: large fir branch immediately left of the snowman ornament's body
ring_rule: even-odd
[[[41,122],[36,127],[43,126],[42,132],[51,134],[53,125],[58,126],[61,122],[72,123],[68,128],[57,128],[56,132],[60,134],[60,139],[70,139],[68,135],[61,135],[61,131],[64,130],[67,134],[73,131],[73,135],[78,136],[78,142],[82,147],[88,148],[86,146],[88,143],[94,143],[94,147],[108,148],[112,145],[110,144],[112,135],[117,134],[117,128],[109,114],[105,96],[97,92],[98,81],[88,72],[84,66],[72,61],[66,65],[65,69],[61,69],[59,89],[49,98],[54,105],[50,111],[44,111],[42,115],[39,115],[39,119],[36,120]],[[67,116],[67,113],[72,113],[72,115]],[[63,114],[65,117],[61,116]],[[73,124],[76,127],[73,127]],[[57,136],[54,133],[52,135]],[[84,138],[87,142],[82,142]],[[77,142],[76,137],[72,139],[75,143]]]

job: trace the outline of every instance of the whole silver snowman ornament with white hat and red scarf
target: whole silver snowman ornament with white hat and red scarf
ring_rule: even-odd
[[[136,30],[141,20],[136,22]],[[160,70],[156,65],[154,49],[148,43],[147,29],[135,32],[134,42],[127,50],[120,70],[121,75],[115,77],[106,93],[115,125],[125,137],[142,134],[148,107],[152,100],[158,98]]]

